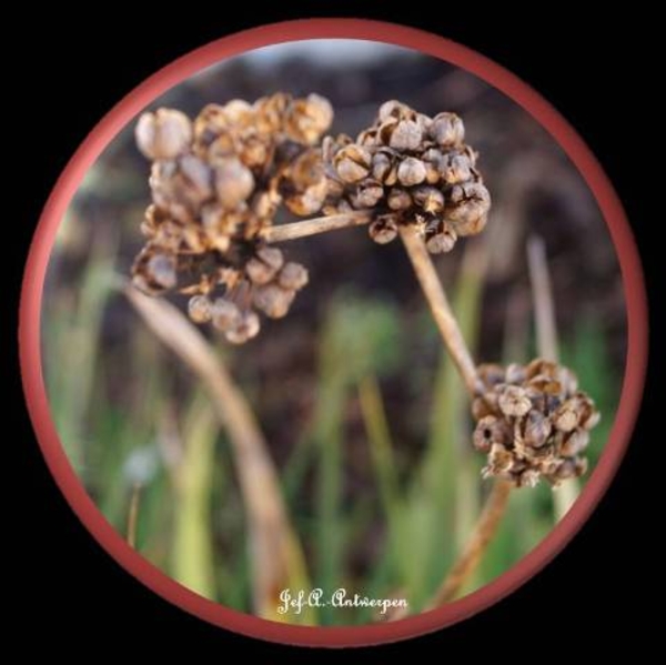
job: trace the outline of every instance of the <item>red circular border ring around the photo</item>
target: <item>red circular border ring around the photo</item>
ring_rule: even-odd
[[[56,232],[83,175],[117,133],[158,95],[222,59],[270,44],[325,38],[381,41],[447,60],[487,81],[532,114],[576,164],[604,214],[619,256],[628,320],[626,372],[610,437],[562,522],[514,567],[460,601],[395,623],[350,627],[293,626],[235,612],[181,586],[129,547],[94,505],[67,459],[51,419],[40,349],[42,288]],[[629,441],[647,362],[647,305],[638,253],[622,204],[589,149],[548,102],[498,64],[441,37],[377,21],[313,19],[256,28],[202,47],[150,77],[101,120],[68,163],[39,221],[26,266],[19,341],[28,409],[47,464],[74,513],[124,568],[162,597],[215,625],[274,642],[351,646],[413,637],[468,617],[525,583],[574,536],[606,491]]]

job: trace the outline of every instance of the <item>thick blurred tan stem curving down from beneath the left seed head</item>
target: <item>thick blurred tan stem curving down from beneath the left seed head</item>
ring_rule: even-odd
[[[306,585],[305,566],[256,420],[219,356],[174,305],[131,286],[124,293],[152,332],[201,380],[229,432],[248,515],[254,611],[276,618],[276,593],[290,584]]]

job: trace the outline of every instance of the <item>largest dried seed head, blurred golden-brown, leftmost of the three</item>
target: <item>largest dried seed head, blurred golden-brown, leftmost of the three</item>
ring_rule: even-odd
[[[235,343],[259,332],[252,308],[284,315],[307,272],[262,238],[282,203],[297,215],[323,205],[327,179],[316,143],[332,118],[325,99],[283,93],[209,104],[193,122],[171,109],[144,113],[135,137],[153,160],[153,202],[134,284],[150,295],[192,294],[190,318],[212,321]]]

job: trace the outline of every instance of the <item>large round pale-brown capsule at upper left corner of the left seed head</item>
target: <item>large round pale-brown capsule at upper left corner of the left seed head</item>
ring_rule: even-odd
[[[192,140],[192,123],[180,111],[158,109],[143,113],[134,130],[139,150],[151,160],[172,160],[186,152]]]

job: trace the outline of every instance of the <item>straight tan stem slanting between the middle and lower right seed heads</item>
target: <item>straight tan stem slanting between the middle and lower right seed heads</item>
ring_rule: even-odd
[[[446,298],[442,282],[440,282],[425,243],[412,226],[401,226],[400,233],[435,323],[453,357],[453,362],[458,369],[470,393],[472,395],[478,394],[483,387],[476,374],[476,365],[472,360],[465,339],[451,310],[448,299]]]

